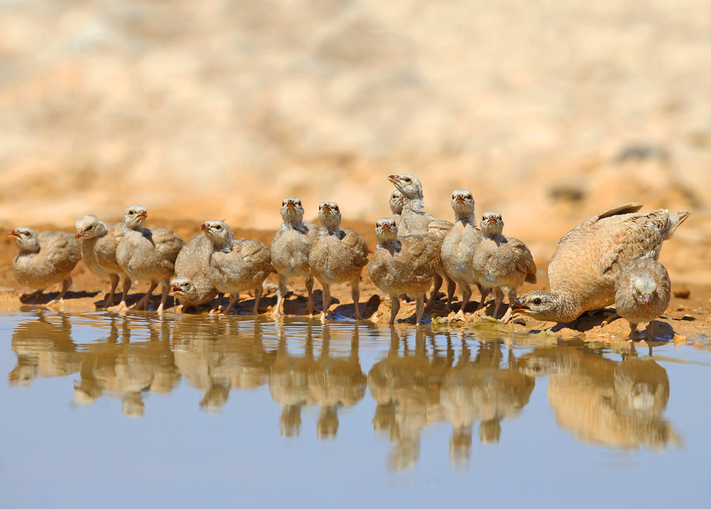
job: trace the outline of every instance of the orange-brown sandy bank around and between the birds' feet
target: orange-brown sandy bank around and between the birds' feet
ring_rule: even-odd
[[[165,220],[157,219],[149,225],[171,227],[177,231],[184,239],[189,239],[196,234],[196,221],[193,220]],[[71,230],[68,225],[59,225],[65,230]],[[344,221],[344,227],[352,227],[362,233],[369,245],[375,246],[376,240],[372,229],[372,223]],[[4,230],[8,228],[3,225]],[[53,225],[38,225],[38,230],[51,229]],[[711,216],[692,215],[677,232],[673,239],[665,242],[660,262],[663,262],[670,272],[672,279],[673,299],[665,314],[655,322],[655,333],[662,341],[673,340],[675,342],[703,342],[705,338],[711,336],[711,235],[705,232],[711,230]],[[236,235],[254,238],[262,242],[269,243],[273,237],[273,230],[236,230]],[[547,235],[549,236],[549,235]],[[542,238],[535,237],[530,240],[539,247],[539,250],[547,250],[551,253],[555,249],[556,242],[547,240],[545,235]],[[1,241],[0,246],[0,311],[18,311],[31,309],[33,306],[26,306],[20,303],[19,297],[26,291],[17,284],[11,274],[11,262],[16,254],[14,245],[7,238]],[[520,291],[530,289],[548,289],[547,286],[547,264],[549,258],[537,257],[535,260],[539,267],[538,283],[535,285],[526,284]],[[82,262],[78,264],[73,272],[74,285],[65,297],[63,304],[53,304],[53,309],[65,309],[67,311],[94,311],[96,306],[105,299],[108,282],[91,274]],[[147,283],[138,283],[132,289],[129,304],[137,301],[142,292],[147,290]],[[305,313],[306,291],[302,279],[290,279],[289,288],[293,294],[285,303],[287,314],[299,315]],[[41,302],[46,302],[52,296],[56,296],[59,285],[50,289],[49,293]],[[276,277],[270,275],[265,284],[265,296],[260,301],[260,313],[268,313],[275,305]],[[318,283],[315,287],[315,301],[321,304],[321,292]],[[348,285],[336,285],[332,292],[335,301],[331,306],[332,311],[339,318],[352,318],[354,316],[354,306],[350,298],[350,288]],[[253,306],[253,298],[244,294],[242,301],[238,304],[240,313],[247,314]],[[437,327],[451,327],[460,330],[467,328],[472,330],[493,330],[510,332],[512,327],[503,326],[500,322],[491,322],[486,316],[493,312],[493,300],[488,301],[488,305],[482,311],[475,311],[479,296],[476,291],[472,302],[468,304],[465,321],[450,322],[444,324],[435,323]],[[159,296],[154,295],[153,307],[157,307]],[[456,297],[454,309],[458,309],[460,295]],[[42,305],[42,304],[39,304]],[[436,302],[433,309],[426,312],[426,316],[444,316],[443,309],[445,299],[443,294]],[[386,324],[390,316],[389,299],[374,286],[364,270],[361,283],[361,311],[368,319]],[[169,299],[169,311],[173,309],[172,299]],[[177,311],[180,311],[178,308]],[[144,312],[144,311],[139,311]],[[149,311],[152,313],[154,311]],[[557,336],[567,338],[582,338],[584,341],[618,342],[626,341],[628,335],[628,324],[622,319],[617,319],[607,326],[601,326],[601,322],[609,313],[601,312],[593,316],[583,316],[572,326],[555,326],[550,332]],[[453,313],[450,314],[453,316]],[[414,318],[414,303],[402,306],[398,315],[399,320],[410,320]],[[516,333],[539,334],[544,329],[550,329],[554,323],[542,323],[531,318],[518,318],[513,324]],[[549,332],[549,333],[550,333]],[[549,334],[549,333],[543,333]],[[551,336],[555,337],[555,336]]]

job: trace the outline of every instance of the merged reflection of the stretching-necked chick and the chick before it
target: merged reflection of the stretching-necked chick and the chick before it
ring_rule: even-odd
[[[443,357],[440,350],[433,348],[429,358],[426,335],[433,340],[431,329],[416,329],[414,349],[408,342],[409,333],[410,328],[391,328],[386,358],[368,373],[368,387],[377,403],[373,428],[388,435],[393,444],[388,465],[398,471],[412,468],[419,460],[422,429],[443,420],[440,389],[454,360],[449,338],[446,355]],[[400,343],[404,347],[402,353]]]

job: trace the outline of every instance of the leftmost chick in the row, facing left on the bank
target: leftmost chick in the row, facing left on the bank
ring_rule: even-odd
[[[37,290],[22,296],[20,301],[33,301],[44,289],[58,282],[62,282],[62,290],[47,305],[62,301],[72,286],[70,273],[81,259],[74,235],[50,231],[38,234],[32,228],[19,227],[11,230],[8,237],[19,250],[12,261],[12,275],[20,284]]]

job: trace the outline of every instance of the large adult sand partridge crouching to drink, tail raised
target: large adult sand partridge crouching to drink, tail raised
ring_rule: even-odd
[[[567,323],[584,311],[613,304],[621,267],[633,259],[657,259],[662,242],[690,215],[664,209],[638,213],[641,208],[627,203],[570,230],[558,241],[548,266],[551,291],[529,291],[514,310],[540,321]]]

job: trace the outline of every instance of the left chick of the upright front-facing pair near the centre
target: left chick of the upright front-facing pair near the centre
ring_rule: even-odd
[[[276,316],[282,312],[286,294],[286,279],[305,276],[306,291],[309,296],[306,311],[312,315],[315,309],[311,296],[314,277],[309,267],[309,252],[313,241],[318,236],[318,227],[304,221],[304,208],[299,198],[286,198],[282,202],[281,218],[283,223],[274,234],[270,246],[272,266],[278,274],[277,304],[273,314]]]

